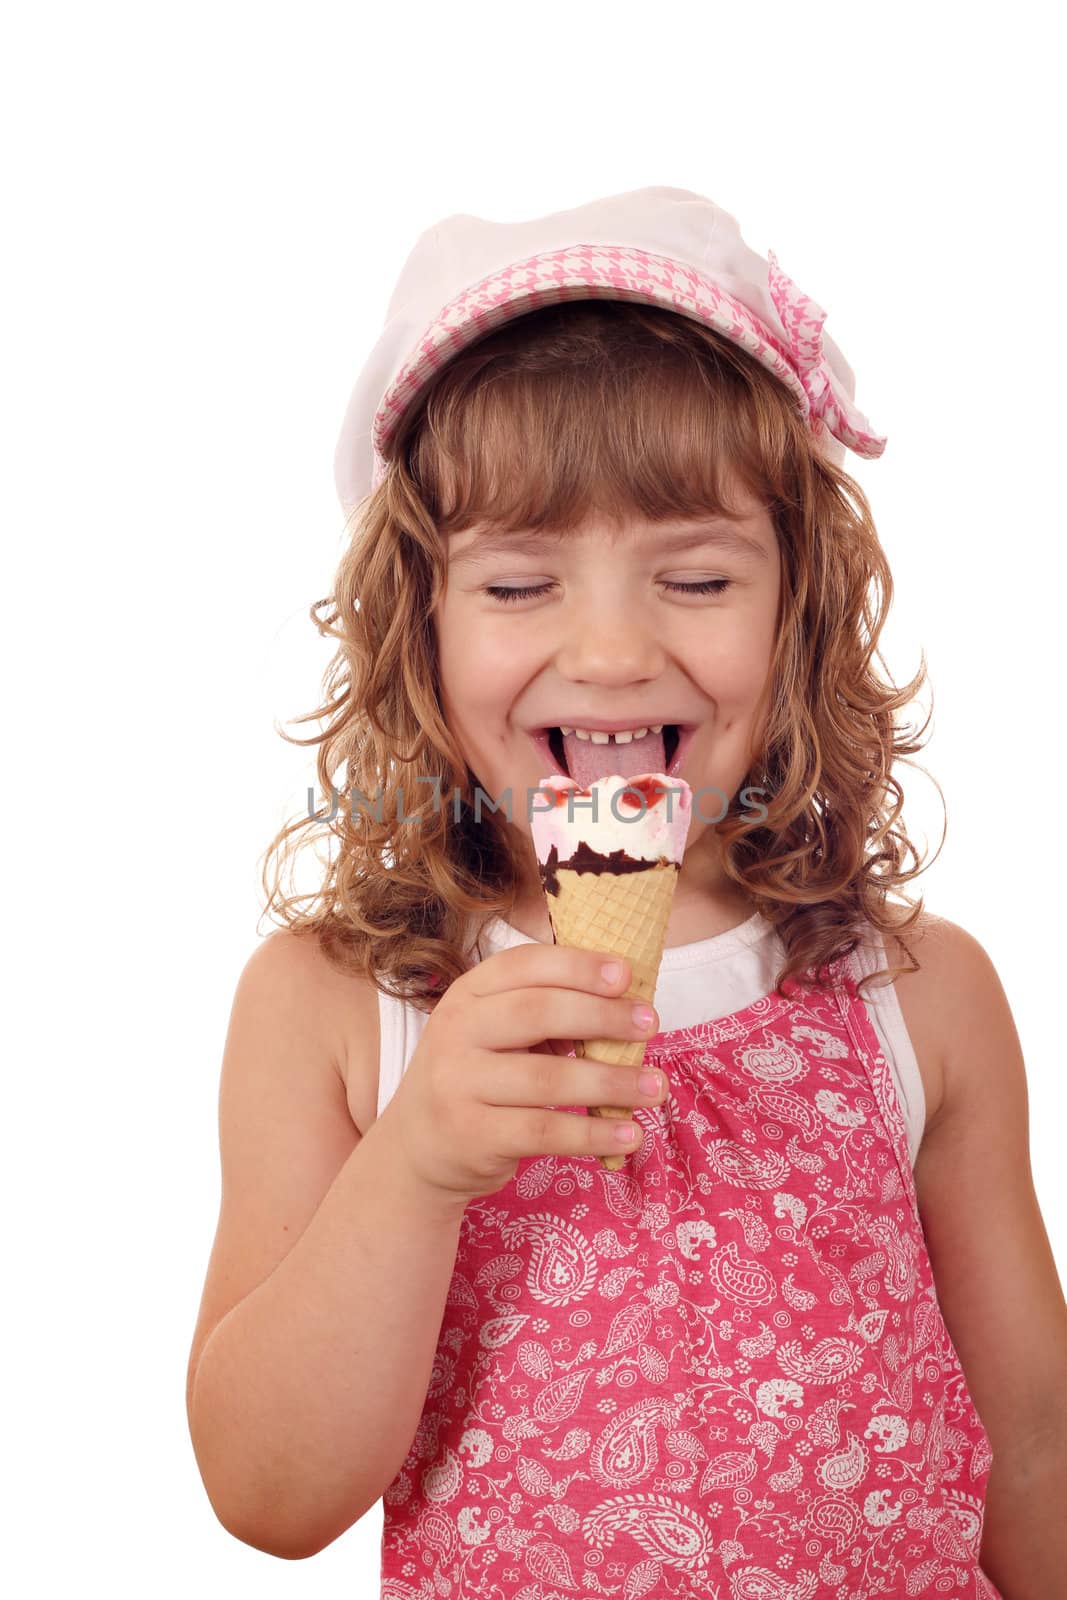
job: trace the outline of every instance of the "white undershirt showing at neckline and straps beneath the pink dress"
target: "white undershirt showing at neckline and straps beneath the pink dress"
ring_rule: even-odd
[[[510,949],[514,944],[536,944],[528,934],[494,917],[486,923],[482,946],[486,955]],[[478,952],[475,950],[475,960]],[[869,928],[865,941],[849,957],[856,981],[865,973],[888,966],[881,934]],[[693,1027],[696,1022],[713,1022],[742,1006],[761,1000],[774,989],[774,981],[785,965],[785,949],[773,925],[761,912],[753,912],[747,922],[710,939],[696,944],[675,944],[664,950],[656,984],[656,1013],[661,1030]],[[904,1112],[907,1146],[915,1166],[918,1146],[926,1126],[926,1096],[918,1070],[918,1061],[909,1038],[896,982],[885,979],[867,986],[861,995],[873,1022],[881,1053],[886,1058]],[[378,1016],[381,1030],[381,1056],[378,1067],[378,1115],[392,1099],[397,1085],[411,1059],[429,1014],[406,1005],[392,995],[378,992]]]

